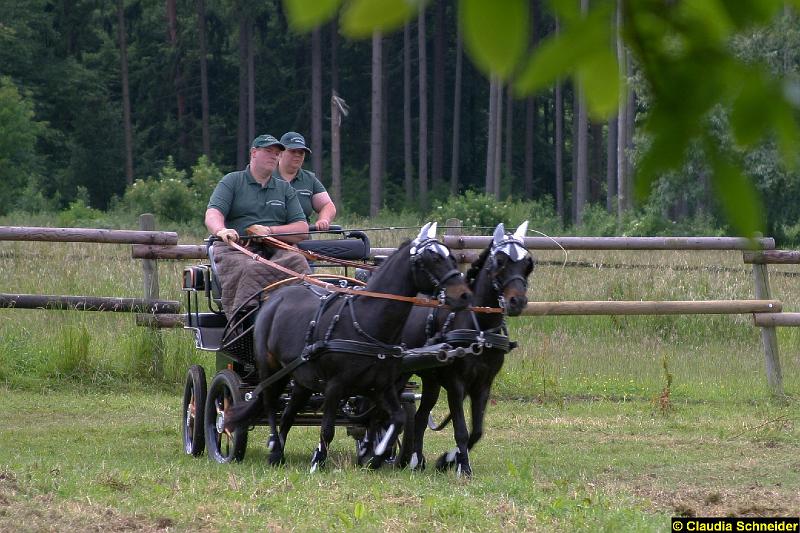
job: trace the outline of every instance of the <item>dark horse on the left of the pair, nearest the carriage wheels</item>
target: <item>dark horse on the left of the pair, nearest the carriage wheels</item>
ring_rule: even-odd
[[[416,239],[389,256],[365,290],[405,297],[418,292],[439,294],[440,300],[455,309],[465,308],[472,300],[455,259],[436,240],[435,223],[426,224]],[[412,302],[342,295],[308,285],[282,287],[268,296],[256,315],[253,341],[262,383],[281,367],[293,368],[294,386],[280,433],[273,406],[288,375],[265,387],[260,394],[262,402],[251,398],[226,413],[226,427],[248,424],[264,408],[272,430],[269,462],[282,463],[286,436],[297,412],[314,392],[322,392],[320,442],[311,459],[314,471],[327,457],[341,400],[363,395],[389,417],[390,429],[380,450],[392,446],[404,422],[396,387],[402,357],[397,344]]]

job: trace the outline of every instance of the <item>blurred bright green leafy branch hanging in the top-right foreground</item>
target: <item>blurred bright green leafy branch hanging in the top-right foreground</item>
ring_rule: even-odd
[[[423,0],[284,0],[293,27],[320,25],[341,8],[342,30],[350,37],[399,28]],[[636,190],[646,196],[655,180],[676,171],[693,141],[705,150],[716,196],[733,229],[742,235],[763,230],[761,198],[743,163],[711,134],[715,106],[730,109],[739,149],[775,139],[787,168],[797,166],[800,132],[796,120],[800,86],[770,74],[760,62],[735,54],[731,40],[781,16],[800,0],[748,2],[663,2],[662,0],[552,0],[549,9],[563,31],[528,48],[530,2],[458,0],[465,48],[487,75],[531,94],[557,80],[573,78],[586,95],[590,114],[600,119],[619,105],[621,79],[612,43],[619,31],[644,81],[650,107],[643,129],[648,148],[637,167]],[[590,4],[590,5],[589,5]]]

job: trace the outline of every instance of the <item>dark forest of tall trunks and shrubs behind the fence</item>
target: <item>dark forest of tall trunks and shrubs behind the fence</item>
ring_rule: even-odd
[[[202,228],[210,190],[244,166],[250,140],[294,130],[310,142],[306,166],[344,216],[433,212],[488,226],[519,213],[553,233],[730,234],[709,163],[719,151],[760,192],[763,230],[800,241],[800,172],[782,165],[780,139],[738,142],[736,106],[725,102],[703,117],[714,153],[689,143],[680,165],[646,177],[649,196],[634,201],[632,176],[653,144],[641,125],[654,114],[656,91],[617,37],[617,3],[573,2],[584,18],[602,17],[592,23],[605,24],[600,36],[618,61],[609,68],[623,82],[622,105],[599,112],[591,86],[574,78],[533,94],[508,81],[513,73],[504,82],[476,67],[480,54],[464,52],[457,23],[469,3],[422,3],[398,31],[359,40],[342,35],[335,15],[296,29],[284,8],[298,1],[0,0],[0,215],[60,212],[60,225],[121,227],[152,211]],[[530,54],[565,20],[569,35],[570,15],[558,7],[565,2],[553,4],[509,2],[524,8]],[[772,4],[726,7],[732,28],[717,20],[704,31],[719,33],[743,64],[792,80],[797,17]],[[760,17],[745,12],[765,5]],[[334,94],[349,110],[340,172],[331,157]],[[768,104],[750,109],[768,115]]]

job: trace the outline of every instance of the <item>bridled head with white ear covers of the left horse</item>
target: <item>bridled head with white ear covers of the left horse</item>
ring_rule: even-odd
[[[455,310],[472,303],[472,291],[458,270],[450,249],[436,239],[436,222],[428,222],[411,241],[411,270],[417,289],[439,299]]]

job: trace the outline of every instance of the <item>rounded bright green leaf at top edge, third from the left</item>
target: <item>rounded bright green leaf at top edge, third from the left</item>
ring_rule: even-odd
[[[460,0],[464,46],[486,73],[508,77],[528,46],[528,2]]]

